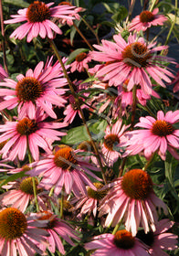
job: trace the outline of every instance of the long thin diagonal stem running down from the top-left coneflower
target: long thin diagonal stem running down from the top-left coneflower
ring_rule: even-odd
[[[59,53],[58,53],[58,48],[56,47],[56,45],[55,45],[55,43],[54,43],[53,40],[48,39],[48,41],[49,41],[51,47],[53,48],[54,53],[55,53],[55,55],[57,56],[59,63],[61,64],[61,68],[63,69],[63,73],[64,73],[65,78],[68,80],[68,87],[69,87],[69,89],[70,89],[70,91],[71,91],[71,93],[72,93],[72,95],[73,95],[73,97],[74,97],[74,99],[75,99],[76,105],[77,105],[77,107],[78,107],[78,109],[79,109],[79,112],[80,112],[80,115],[81,115],[81,119],[82,119],[82,121],[83,121],[83,123],[84,123],[84,126],[85,126],[85,128],[86,128],[86,131],[87,131],[87,133],[89,134],[89,140],[90,140],[90,142],[91,142],[91,144],[92,144],[92,146],[93,146],[93,148],[94,148],[94,152],[95,152],[96,158],[97,158],[97,160],[98,160],[98,162],[99,162],[100,170],[101,170],[101,173],[102,173],[102,177],[103,177],[104,183],[107,184],[107,180],[106,180],[106,177],[105,177],[103,165],[102,165],[101,160],[100,160],[100,155],[99,155],[97,146],[96,146],[96,144],[93,142],[93,139],[92,139],[91,134],[90,134],[90,132],[89,132],[89,127],[88,127],[88,125],[87,125],[87,123],[86,123],[86,120],[85,120],[85,117],[84,117],[84,113],[82,112],[81,107],[80,107],[79,96],[78,96],[78,94],[74,91],[72,82],[71,82],[71,80],[70,80],[69,77],[68,77],[68,72],[67,72],[67,70],[66,70],[66,68],[65,68],[65,66],[64,66],[64,63],[63,63],[63,61],[62,61],[62,59],[61,59],[61,57],[60,57],[60,55],[59,55]]]

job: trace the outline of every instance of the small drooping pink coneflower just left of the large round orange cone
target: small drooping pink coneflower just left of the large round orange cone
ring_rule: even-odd
[[[93,217],[96,217],[99,202],[108,193],[108,189],[100,191],[100,188],[103,187],[101,183],[96,182],[93,183],[93,185],[97,190],[87,187],[87,195],[81,195],[81,197],[73,198],[71,200],[71,204],[75,204],[77,202],[75,209],[80,208],[80,216],[83,214],[88,214],[90,216],[92,214]]]

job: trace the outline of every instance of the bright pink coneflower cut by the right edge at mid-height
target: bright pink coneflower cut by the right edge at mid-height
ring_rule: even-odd
[[[174,123],[179,122],[179,111],[169,111],[165,114],[162,111],[157,112],[157,119],[152,116],[140,118],[140,123],[135,127],[145,128],[129,132],[129,147],[126,154],[136,155],[143,151],[146,158],[150,158],[154,152],[157,152],[165,160],[168,150],[176,159],[179,155],[175,149],[179,148],[179,130],[174,127]]]

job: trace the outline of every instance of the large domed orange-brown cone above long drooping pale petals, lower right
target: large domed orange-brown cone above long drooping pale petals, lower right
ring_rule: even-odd
[[[133,169],[123,176],[121,187],[127,197],[144,200],[153,189],[153,181],[146,172],[141,169]]]

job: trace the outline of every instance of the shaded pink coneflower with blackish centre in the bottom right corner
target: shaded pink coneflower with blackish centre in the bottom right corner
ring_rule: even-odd
[[[153,256],[167,256],[168,254],[163,250],[177,249],[177,236],[168,232],[174,225],[173,221],[169,219],[162,219],[156,224],[156,231],[149,231],[147,234],[143,230],[139,230],[137,238],[142,240],[147,246],[149,246],[149,253]]]

